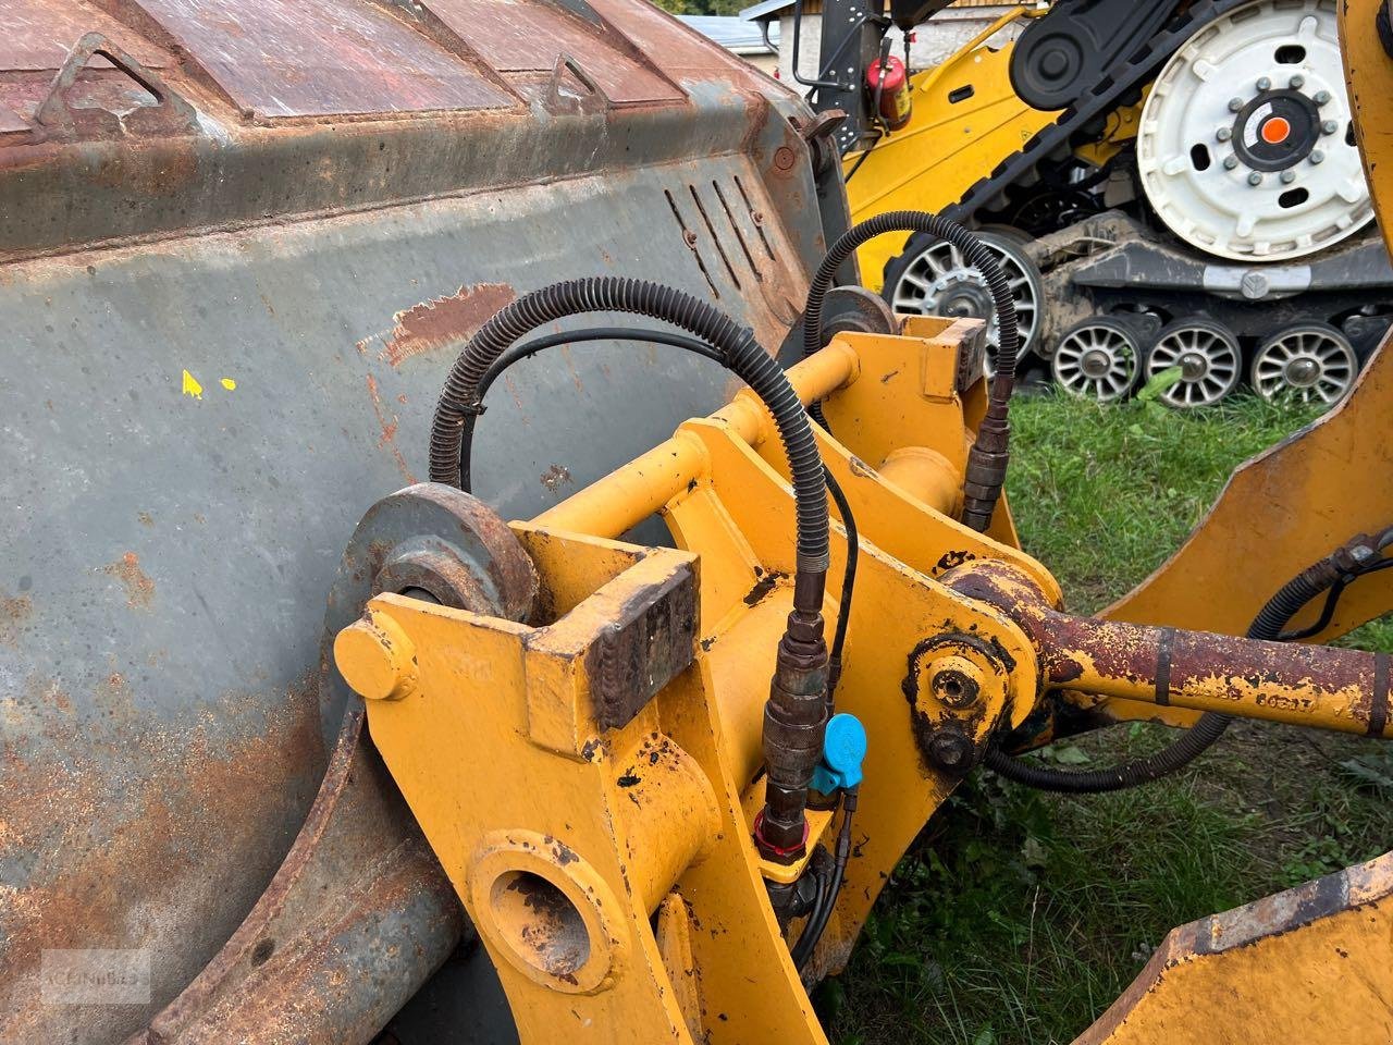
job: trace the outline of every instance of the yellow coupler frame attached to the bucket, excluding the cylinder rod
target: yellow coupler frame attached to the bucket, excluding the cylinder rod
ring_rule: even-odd
[[[1017,548],[1009,507],[989,534],[954,517],[986,397],[960,364],[981,336],[975,320],[917,319],[901,336],[840,336],[790,371],[804,403],[823,400],[819,446],[859,525],[836,704],[869,736],[855,850],[809,980],[846,964],[889,874],[960,779],[935,768],[926,738],[946,732],[981,751],[1020,726],[1042,701],[1041,653],[1060,652],[1036,649],[1043,633],[1017,613],[1059,606],[1061,592]],[[479,931],[524,1045],[826,1045],[790,960],[801,924],[781,927],[768,899],[766,875],[787,871],[763,864],[751,837],[765,699],[793,605],[793,509],[773,421],[744,392],[511,524],[547,594],[538,619],[387,594],[340,633],[337,666],[368,698],[373,743]],[[653,513],[676,548],[617,539]],[[829,633],[847,555],[834,518]],[[993,603],[940,580],[975,577],[957,568],[974,560],[1006,573],[1018,598]],[[674,591],[684,606],[695,596],[695,620],[683,619],[691,647],[645,616]],[[616,659],[621,637],[638,634],[648,652]],[[1081,669],[1105,692],[1127,681]],[[598,697],[616,691],[616,672],[618,692],[653,694],[617,725]],[[815,814],[815,840],[829,844],[840,816]],[[1386,914],[1360,929],[1369,940],[1387,931]],[[1319,959],[1314,939],[1286,952],[1302,968]],[[1373,975],[1386,991],[1389,973]],[[1173,974],[1222,1007],[1188,977]],[[1145,1039],[1208,1041],[1170,1032],[1188,1017],[1167,996],[1185,995],[1156,995],[1156,1021],[1138,1017]],[[1275,1005],[1300,1023],[1297,1000]],[[1096,1038],[1114,1039],[1133,1041]]]

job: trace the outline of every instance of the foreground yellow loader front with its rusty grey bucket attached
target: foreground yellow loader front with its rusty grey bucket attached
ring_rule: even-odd
[[[979,766],[1393,737],[1322,645],[1393,609],[1393,354],[1080,617],[1002,493],[990,245],[851,226],[834,125],[656,8],[0,25],[0,1041],[825,1045]],[[893,233],[983,274],[990,385],[985,322],[855,284]],[[1027,757],[1138,719],[1183,732]],[[1080,1041],[1387,1039],[1393,854],[1254,900]]]

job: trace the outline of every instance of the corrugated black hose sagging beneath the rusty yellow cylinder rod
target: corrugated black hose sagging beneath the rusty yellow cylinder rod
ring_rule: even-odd
[[[1302,606],[1339,580],[1339,571],[1332,573],[1329,559],[1316,563],[1287,581],[1282,589],[1268,599],[1248,626],[1248,638],[1275,642],[1282,638],[1282,630]],[[1137,758],[1109,769],[1052,769],[1009,755],[999,747],[986,750],[988,769],[1000,773],[1007,780],[1035,787],[1042,791],[1064,794],[1102,794],[1121,791],[1138,784],[1151,783],[1188,765],[1208,751],[1233,718],[1206,711],[1184,736],[1149,758]]]

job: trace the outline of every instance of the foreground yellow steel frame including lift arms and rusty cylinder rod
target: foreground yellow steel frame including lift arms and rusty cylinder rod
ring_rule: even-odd
[[[1348,4],[1369,24],[1375,6]],[[1393,63],[1372,33],[1347,49],[1355,99],[1379,99],[1361,109],[1378,159],[1393,144]],[[1387,170],[1371,163],[1385,206]],[[823,404],[836,438],[818,429],[819,449],[859,521],[836,699],[869,734],[855,849],[808,982],[846,964],[889,872],[971,766],[943,757],[944,737],[978,752],[1060,697],[1117,719],[1222,711],[1393,736],[1387,656],[1183,630],[1233,633],[1254,614],[1268,592],[1236,582],[1251,557],[1284,578],[1393,518],[1393,485],[1360,478],[1390,464],[1361,422],[1393,396],[1393,353],[1343,408],[1240,471],[1110,620],[1084,620],[1020,550],[1004,502],[988,534],[956,520],[986,403],[972,376],[982,334],[976,320],[910,318],[898,334],[843,334],[788,373]],[[482,507],[450,495],[467,529]],[[1283,510],[1311,503],[1337,507],[1279,529]],[[676,548],[624,539],[653,514]],[[540,591],[524,621],[383,594],[338,634],[337,667],[528,1045],[826,1041],[790,957],[801,922],[780,924],[769,889],[847,814],[812,811],[808,856],[788,864],[751,837],[791,518],[773,419],[744,392],[510,524]],[[847,552],[834,525],[830,578]],[[1390,609],[1387,585],[1355,585],[1322,637]],[[1390,943],[1393,853],[1174,931],[1080,1042],[1387,1041]]]

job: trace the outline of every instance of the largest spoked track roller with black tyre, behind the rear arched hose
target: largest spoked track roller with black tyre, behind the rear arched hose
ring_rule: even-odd
[[[1029,353],[1038,340],[1045,288],[1039,269],[1022,248],[1024,234],[1014,229],[978,233],[996,255],[1015,297],[1015,323],[1020,332],[1020,355]],[[981,272],[967,263],[963,252],[950,242],[928,235],[914,235],[904,254],[886,269],[885,295],[896,312],[937,316],[975,316],[986,319],[988,372],[996,369],[1000,344],[992,294]]]

